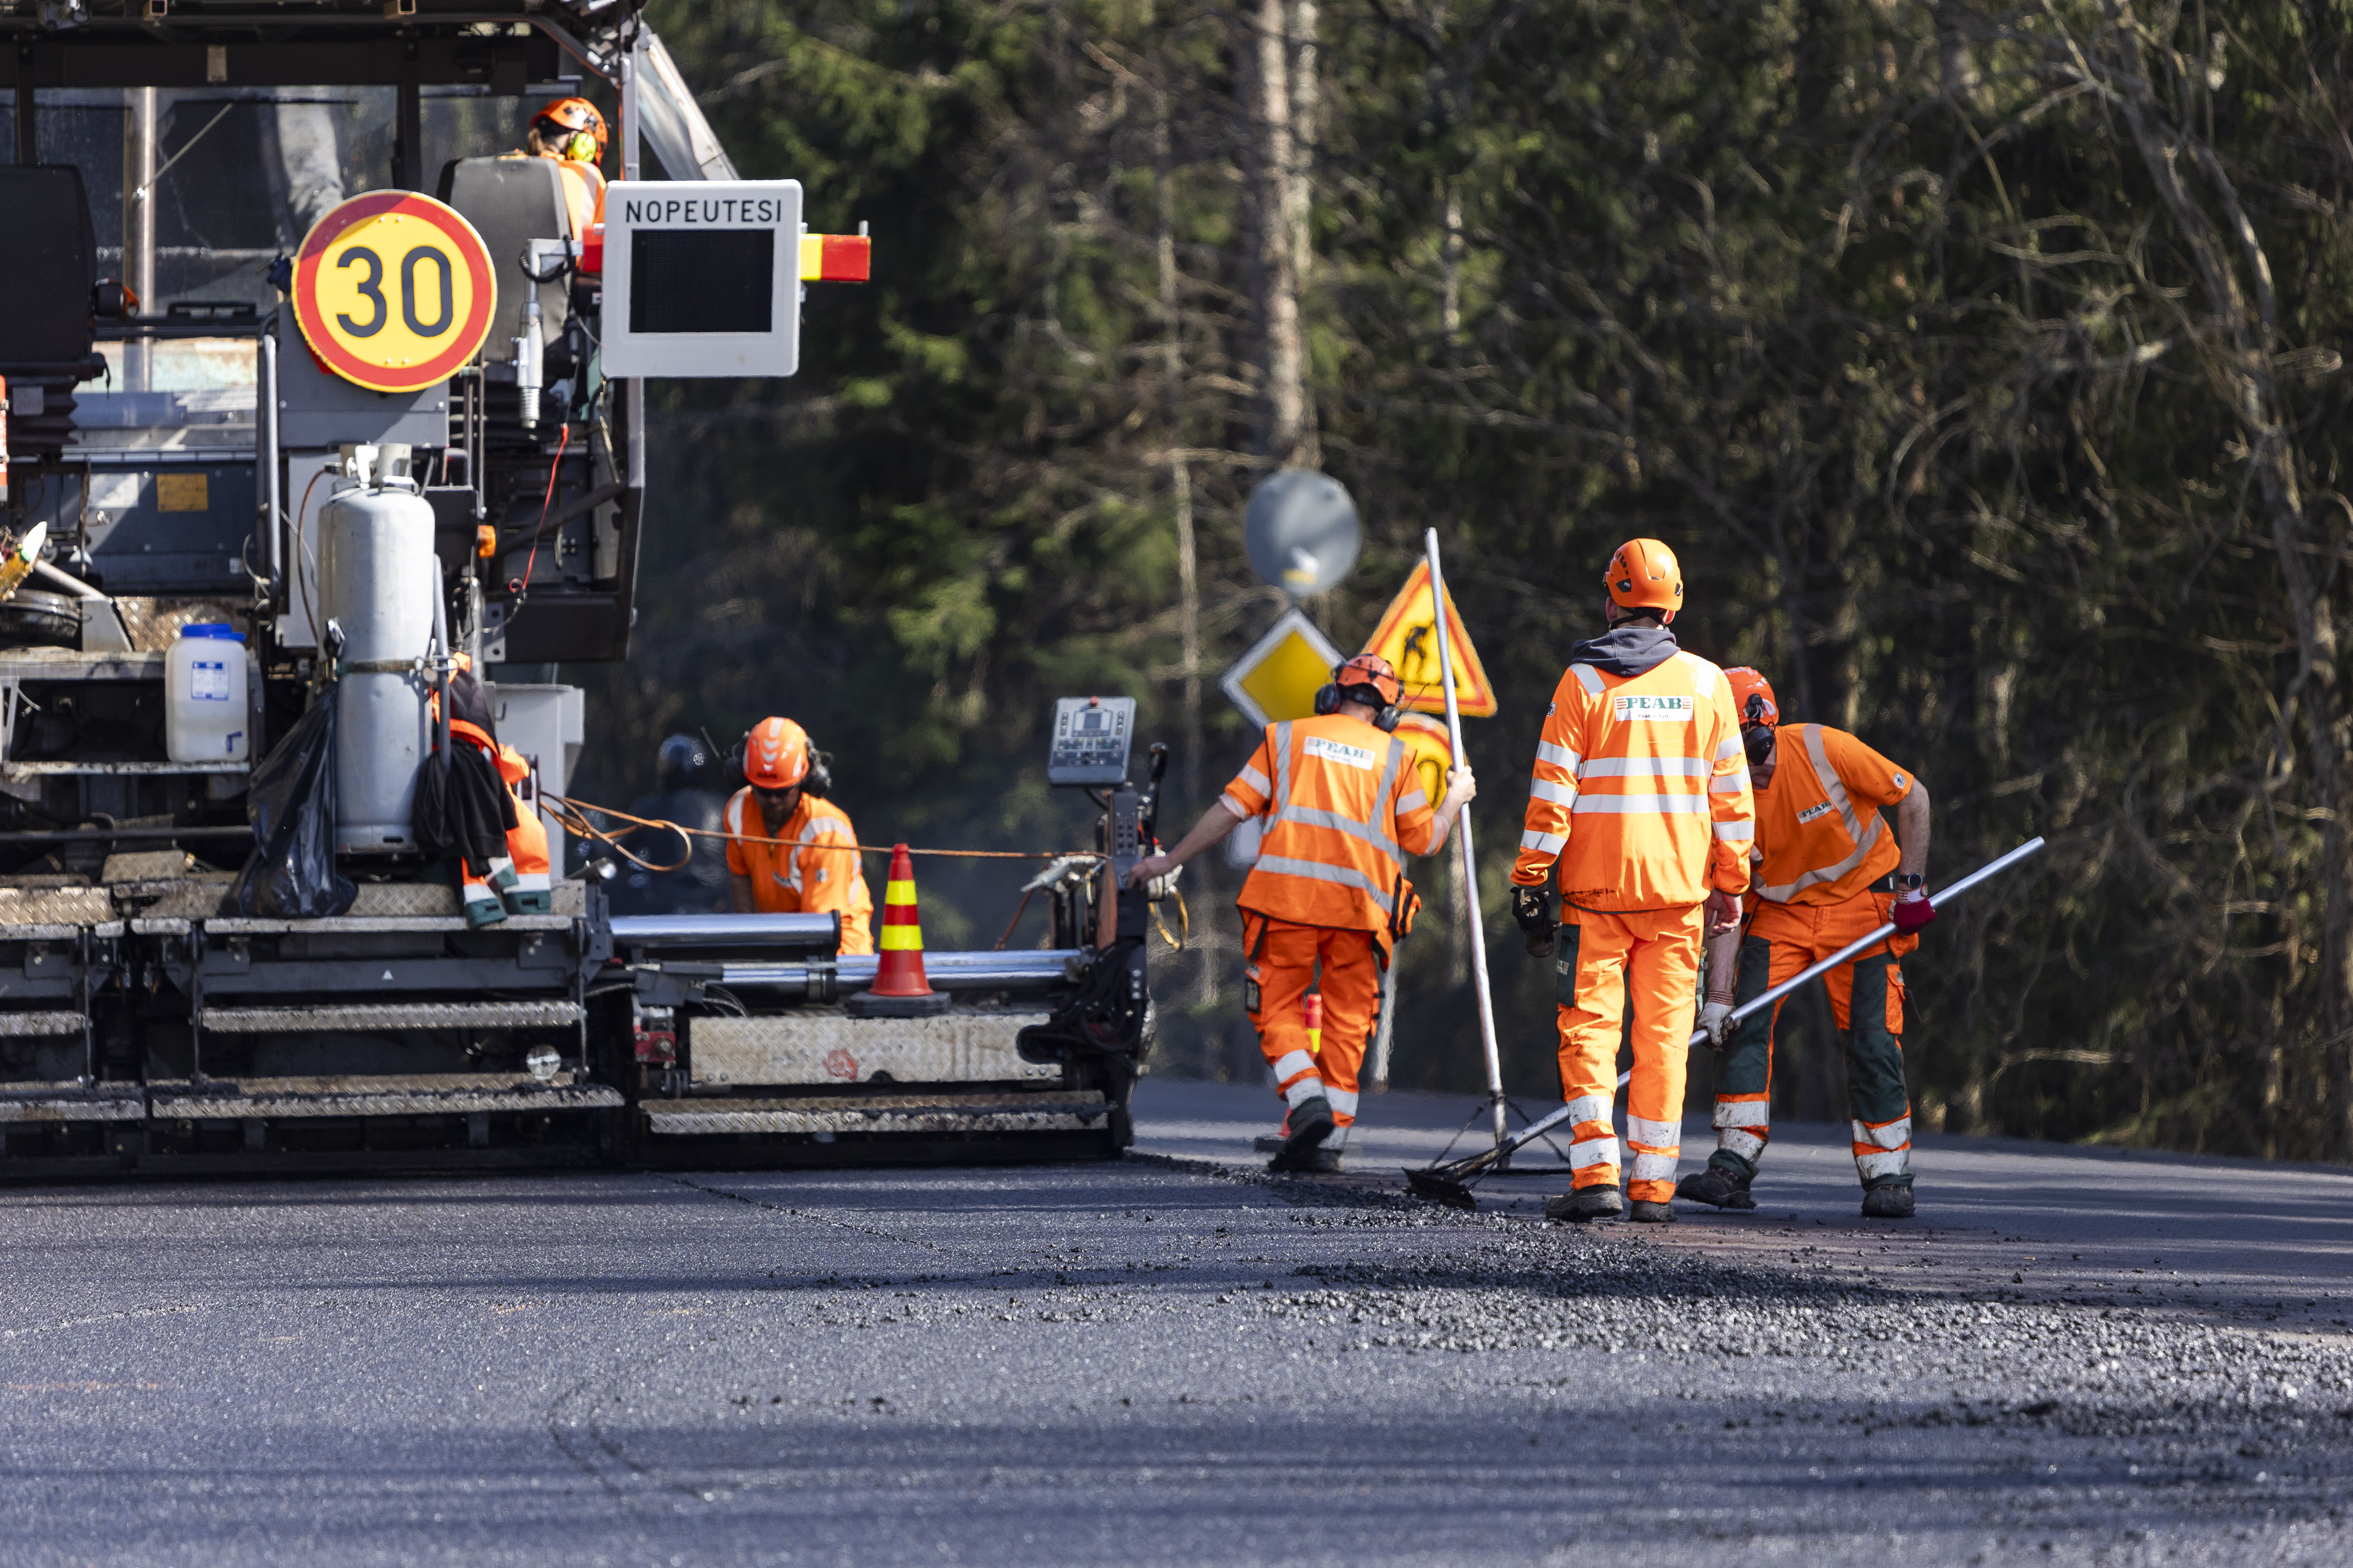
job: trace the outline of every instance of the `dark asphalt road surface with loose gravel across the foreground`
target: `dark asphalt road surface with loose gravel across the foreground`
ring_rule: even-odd
[[[2353,1561],[2353,1173],[1925,1140],[1866,1227],[1791,1128],[1581,1232],[1144,1088],[1106,1166],[0,1192],[0,1561]]]

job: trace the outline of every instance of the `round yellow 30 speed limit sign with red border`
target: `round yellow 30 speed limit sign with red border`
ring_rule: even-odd
[[[489,247],[454,207],[374,190],[329,209],[294,252],[294,322],[344,381],[416,393],[482,348],[499,306]]]

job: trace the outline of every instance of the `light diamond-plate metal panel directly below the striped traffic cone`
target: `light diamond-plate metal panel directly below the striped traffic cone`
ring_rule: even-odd
[[[1014,1034],[1047,1013],[941,1013],[849,1018],[805,1009],[767,1018],[696,1018],[687,1025],[696,1084],[1005,1084],[1056,1081],[1059,1063],[1026,1063]]]

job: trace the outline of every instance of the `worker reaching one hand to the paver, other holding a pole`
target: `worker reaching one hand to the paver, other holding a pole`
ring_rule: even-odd
[[[1468,764],[1431,804],[1393,733],[1402,686],[1369,654],[1332,670],[1313,719],[1268,724],[1259,750],[1176,849],[1146,856],[1132,886],[1165,877],[1242,823],[1261,823],[1242,882],[1242,1006],[1289,1105],[1268,1171],[1337,1171],[1355,1126],[1358,1067],[1381,1006],[1381,971],[1412,922],[1400,856],[1433,856],[1478,792]],[[1301,1006],[1322,966],[1322,1046]]]

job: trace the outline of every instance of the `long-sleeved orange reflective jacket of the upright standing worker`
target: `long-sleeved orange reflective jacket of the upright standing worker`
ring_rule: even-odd
[[[1755,809],[1732,684],[1697,654],[1642,675],[1574,663],[1537,743],[1511,879],[1588,910],[1675,910],[1748,889]]]

